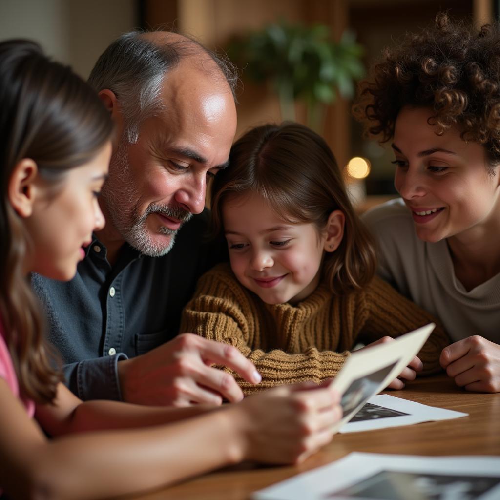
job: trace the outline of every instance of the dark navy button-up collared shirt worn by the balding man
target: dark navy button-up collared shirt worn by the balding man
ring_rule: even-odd
[[[94,238],[71,281],[32,275],[46,309],[48,339],[78,397],[121,399],[117,361],[177,334],[197,278],[220,258],[214,244],[203,242],[206,221],[206,213],[193,216],[162,257],[141,256],[124,244],[111,267],[105,246]]]

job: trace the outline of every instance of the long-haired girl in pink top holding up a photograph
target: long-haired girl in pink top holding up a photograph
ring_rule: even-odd
[[[328,442],[340,416],[328,387],[164,408],[82,402],[60,382],[28,275],[72,278],[103,227],[112,125],[90,87],[25,40],[0,43],[0,106],[0,489],[117,497],[245,459],[297,462]]]

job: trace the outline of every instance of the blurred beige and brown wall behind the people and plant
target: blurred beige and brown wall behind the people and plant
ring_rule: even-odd
[[[476,24],[494,22],[500,0],[0,0],[0,39],[28,37],[37,40],[55,58],[70,63],[83,77],[102,50],[119,34],[136,27],[170,28],[186,32],[207,47],[228,50],[239,36],[262,30],[271,23],[324,25],[334,41],[346,29],[363,47],[362,64],[369,64],[382,48],[406,31],[432,22],[440,10]],[[239,135],[249,126],[280,121],[276,92],[269,84],[250,80],[242,68],[238,100]],[[337,92],[338,94],[338,92]],[[376,142],[361,137],[351,119],[351,100],[337,95],[325,107],[320,133],[341,166],[353,156],[366,158],[369,175],[347,177],[353,193],[367,193],[362,206],[394,194],[390,154]],[[303,104],[296,119],[305,120]],[[357,191],[356,191],[357,190]]]

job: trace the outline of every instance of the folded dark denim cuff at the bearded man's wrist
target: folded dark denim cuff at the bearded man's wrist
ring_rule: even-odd
[[[122,352],[114,356],[85,359],[63,365],[69,389],[80,399],[112,399],[121,401],[118,361],[128,359]]]

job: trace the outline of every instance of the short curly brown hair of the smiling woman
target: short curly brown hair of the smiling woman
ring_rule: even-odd
[[[462,139],[484,145],[491,164],[500,162],[498,26],[477,29],[441,12],[432,26],[385,48],[359,84],[353,114],[386,142],[404,106],[432,108],[437,134],[457,126]]]

